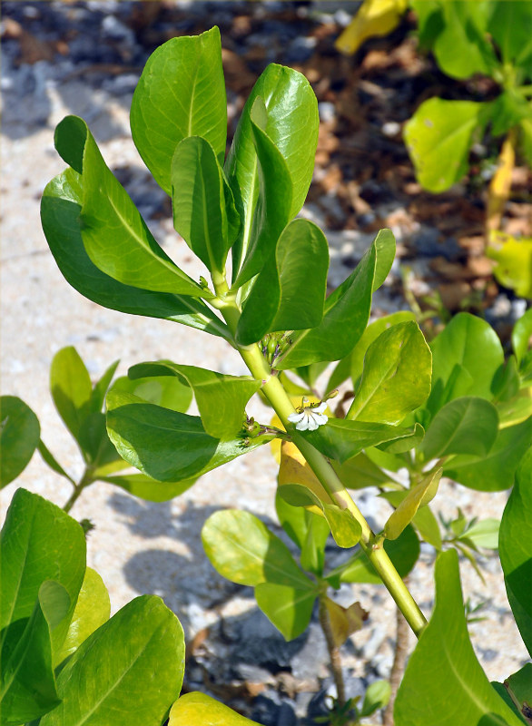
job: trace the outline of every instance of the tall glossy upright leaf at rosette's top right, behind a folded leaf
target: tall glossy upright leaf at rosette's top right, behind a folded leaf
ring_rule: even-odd
[[[291,178],[288,218],[296,216],[309,191],[318,143],[318,102],[307,79],[292,68],[269,65],[253,86],[241,113],[225,171],[237,208],[241,210],[241,237],[232,250],[232,280],[236,280],[247,256],[251,227],[259,193],[259,162],[251,123],[257,98],[266,107],[264,131],[281,153]]]

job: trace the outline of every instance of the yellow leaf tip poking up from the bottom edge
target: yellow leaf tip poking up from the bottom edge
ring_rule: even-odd
[[[168,726],[251,726],[256,721],[245,719],[220,701],[205,693],[184,693],[172,706]]]

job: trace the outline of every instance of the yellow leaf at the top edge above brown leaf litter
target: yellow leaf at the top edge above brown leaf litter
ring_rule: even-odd
[[[336,41],[340,53],[354,54],[373,35],[388,35],[399,25],[407,0],[364,0],[357,15]]]

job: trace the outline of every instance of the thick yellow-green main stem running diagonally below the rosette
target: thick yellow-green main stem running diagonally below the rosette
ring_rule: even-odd
[[[240,318],[240,310],[234,300],[229,299],[226,284],[217,287],[216,292],[219,299],[217,307],[221,310],[224,319],[234,334]],[[331,499],[342,509],[349,509],[350,513],[360,523],[362,529],[360,546],[367,554],[369,562],[379,574],[380,579],[386,585],[389,594],[397,603],[399,610],[405,616],[410,628],[419,636],[427,621],[419,610],[418,603],[409,593],[407,586],[403,583],[398,571],[389,559],[386,550],[382,546],[381,538],[379,539],[373,534],[359,507],[354,503],[340,478],[330,466],[330,462],[314,446],[311,446],[305,437],[302,437],[289,422],[288,417],[294,413],[295,408],[279,378],[271,374],[271,369],[261,354],[260,348],[254,344],[239,347],[238,349],[253,378],[262,381],[262,392],[281,419],[282,425],[287,431],[291,432],[294,444],[300,449],[301,454],[305,457]]]

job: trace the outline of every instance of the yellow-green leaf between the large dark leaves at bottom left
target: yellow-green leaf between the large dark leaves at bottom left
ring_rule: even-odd
[[[110,614],[111,602],[107,588],[100,575],[87,567],[64,643],[54,653],[54,665],[72,655],[91,633],[109,620]]]

